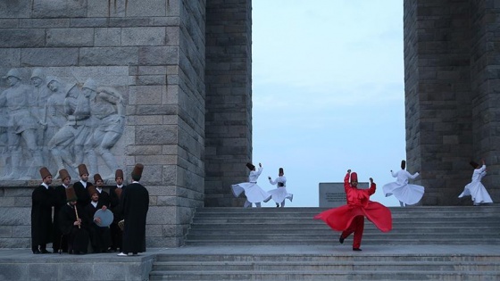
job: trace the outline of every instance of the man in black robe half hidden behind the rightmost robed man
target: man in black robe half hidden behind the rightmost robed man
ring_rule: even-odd
[[[110,187],[110,199],[111,199],[111,211],[113,214],[111,228],[111,238],[112,238],[112,250],[119,251],[121,249],[121,237],[123,236],[123,231],[118,227],[118,222],[123,219],[121,215],[121,205],[120,197],[121,192],[125,190],[126,186],[123,186],[123,170],[117,169],[114,172],[115,186]]]

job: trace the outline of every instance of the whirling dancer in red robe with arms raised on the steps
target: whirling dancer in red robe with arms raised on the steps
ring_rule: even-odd
[[[351,181],[349,182],[349,177]],[[343,244],[344,239],[354,232],[353,251],[361,250],[362,232],[364,229],[364,217],[370,220],[382,232],[392,229],[392,215],[390,210],[379,202],[371,202],[370,195],[375,194],[376,185],[370,178],[370,188],[358,189],[358,177],[356,173],[347,170],[344,178],[344,189],[346,191],[347,204],[323,211],[314,216],[314,219],[322,219],[329,227],[342,231],[338,241]]]

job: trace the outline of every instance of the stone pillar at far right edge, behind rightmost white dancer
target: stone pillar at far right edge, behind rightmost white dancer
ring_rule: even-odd
[[[473,157],[487,164],[482,182],[500,201],[500,4],[471,1],[471,88]],[[480,163],[480,162],[479,162]]]

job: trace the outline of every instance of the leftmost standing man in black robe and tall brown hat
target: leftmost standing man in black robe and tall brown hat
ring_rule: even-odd
[[[40,169],[42,184],[31,194],[31,250],[33,253],[50,253],[46,244],[52,241],[52,206],[54,205],[54,189],[52,175],[42,167]]]

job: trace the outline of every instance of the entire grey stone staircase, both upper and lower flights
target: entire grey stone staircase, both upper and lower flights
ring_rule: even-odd
[[[352,252],[351,236],[342,245],[344,252],[279,252],[279,246],[337,247],[339,233],[323,221],[312,219],[324,210],[200,209],[188,231],[187,247],[217,249],[261,245],[276,247],[278,251],[159,254],[150,280],[500,279],[500,252],[437,251],[438,247],[449,249],[463,245],[471,245],[472,249],[487,249],[487,245],[498,248],[498,206],[392,208],[393,230],[389,233],[381,233],[371,222],[366,222],[362,248],[392,247],[397,251]],[[426,247],[426,250],[415,252],[415,247]]]

